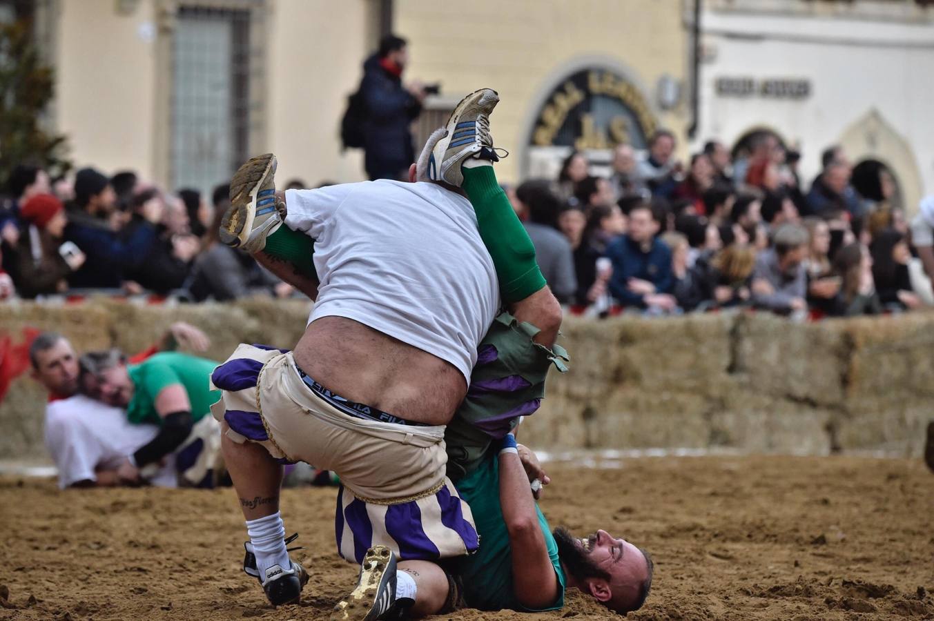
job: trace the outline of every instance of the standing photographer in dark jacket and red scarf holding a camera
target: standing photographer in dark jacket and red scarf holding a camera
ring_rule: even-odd
[[[421,112],[425,87],[417,81],[403,85],[403,70],[408,63],[405,39],[386,35],[379,51],[363,64],[360,93],[366,106],[363,148],[366,174],[371,180],[401,180],[415,149],[409,126]]]

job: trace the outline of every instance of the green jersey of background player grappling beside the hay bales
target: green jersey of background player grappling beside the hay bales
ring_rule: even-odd
[[[132,423],[162,424],[156,412],[156,395],[166,386],[181,384],[191,402],[191,420],[198,422],[210,412],[211,404],[220,399],[219,390],[208,389],[211,373],[218,364],[214,360],[168,351],[130,366],[134,393],[126,408],[127,419]]]

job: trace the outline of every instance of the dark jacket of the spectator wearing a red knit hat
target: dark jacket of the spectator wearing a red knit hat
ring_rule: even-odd
[[[4,245],[5,257],[11,250],[9,275],[20,297],[35,298],[59,292],[59,283],[71,274],[71,268],[59,254],[58,247],[58,240],[31,226],[22,230],[16,248]]]

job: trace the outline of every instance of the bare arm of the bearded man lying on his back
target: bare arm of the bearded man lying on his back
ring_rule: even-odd
[[[516,440],[507,435],[503,446]],[[509,546],[513,558],[513,589],[523,606],[541,609],[558,600],[558,576],[548,556],[545,535],[538,522],[535,500],[518,453],[505,450],[500,453],[500,504],[502,519],[509,532]]]

